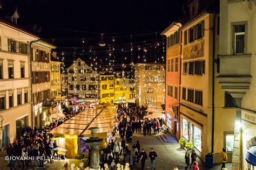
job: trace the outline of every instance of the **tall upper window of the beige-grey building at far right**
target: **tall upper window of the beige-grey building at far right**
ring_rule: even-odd
[[[234,53],[244,54],[245,48],[245,25],[234,26]]]

